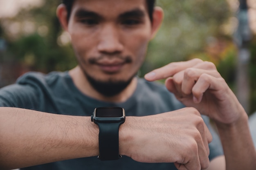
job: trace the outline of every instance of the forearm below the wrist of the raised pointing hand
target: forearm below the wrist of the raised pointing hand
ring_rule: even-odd
[[[233,124],[216,122],[225,153],[227,170],[256,169],[256,151],[249,131],[248,116],[244,110],[242,113]]]

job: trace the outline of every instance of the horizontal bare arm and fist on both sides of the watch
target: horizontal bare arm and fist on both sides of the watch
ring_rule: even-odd
[[[0,108],[0,169],[97,156],[98,133],[90,117]],[[195,108],[126,117],[119,130],[121,155],[140,162],[174,162],[189,170],[209,166],[210,141]]]

